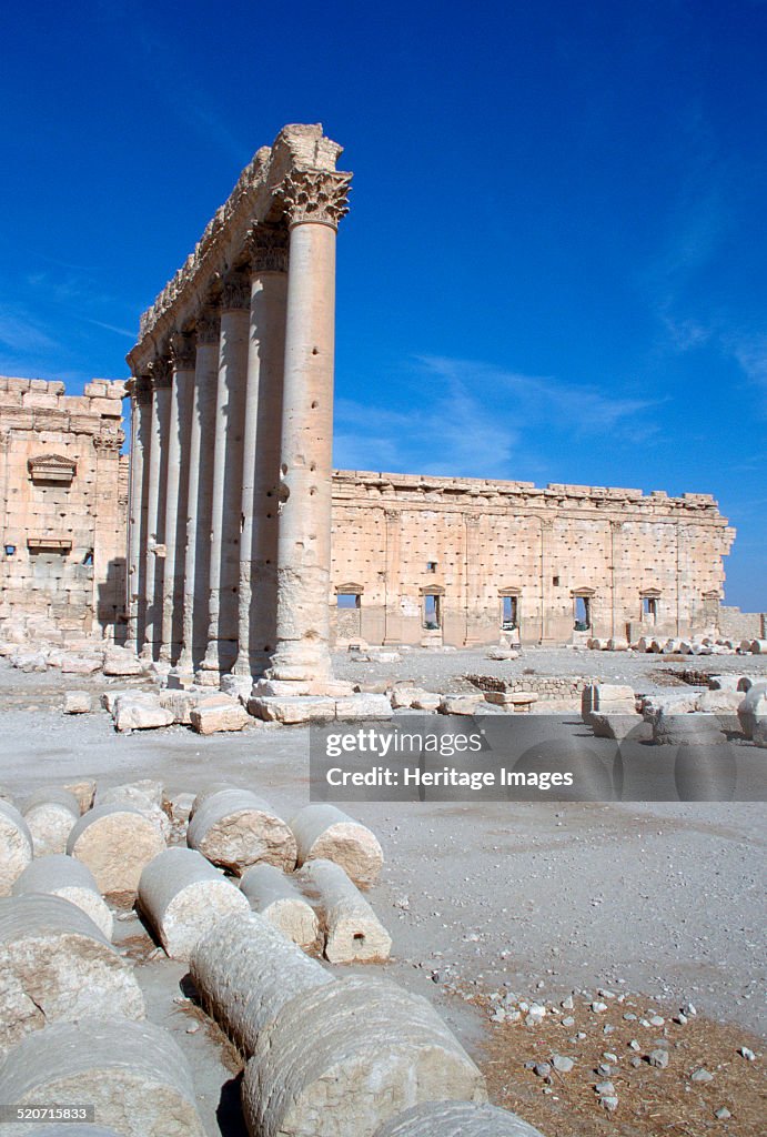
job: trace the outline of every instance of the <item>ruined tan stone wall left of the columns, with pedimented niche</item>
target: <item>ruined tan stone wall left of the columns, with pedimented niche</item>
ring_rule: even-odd
[[[114,636],[124,615],[124,384],[0,377],[0,630]]]

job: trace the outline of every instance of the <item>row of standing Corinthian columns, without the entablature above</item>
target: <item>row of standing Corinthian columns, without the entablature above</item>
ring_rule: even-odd
[[[132,380],[128,646],[184,678],[331,677],[335,238],[348,175],[285,216]],[[298,689],[298,688],[297,688]]]

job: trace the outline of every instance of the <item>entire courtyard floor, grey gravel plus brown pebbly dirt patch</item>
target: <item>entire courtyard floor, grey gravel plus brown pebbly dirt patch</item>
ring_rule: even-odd
[[[667,662],[566,649],[527,649],[510,663],[490,662],[484,652],[335,659],[339,678],[369,686],[411,679],[443,692],[465,689],[470,672],[582,674],[652,692],[681,686],[678,674],[690,667],[767,675],[764,657]],[[307,804],[308,729],[253,724],[201,738],[173,727],[120,736],[105,711],[61,713],[66,689],[99,694],[109,686],[126,683],[22,674],[0,661],[2,789],[23,802],[41,785],[85,777],[107,786],[152,778],[172,792],[232,781],[285,818]],[[545,1137],[767,1131],[764,804],[344,807],[376,832],[386,856],[368,894],[393,938],[392,960],[376,973],[435,1004],[483,1065],[493,1101]],[[118,927],[137,961],[150,1016],[173,1029],[192,1062],[210,1137],[239,1137],[239,1065],[217,1028],[185,999],[184,966],[153,947],[135,915]],[[561,1007],[570,996],[573,1007]],[[525,1026],[520,1002],[547,1007],[539,1026]],[[674,1022],[689,1004],[694,1013],[686,1023]],[[648,1062],[659,1041],[667,1068]],[[532,1069],[555,1055],[569,1056],[573,1069]],[[692,1079],[698,1069],[712,1077]],[[600,1105],[600,1081],[615,1087],[615,1112]],[[717,1118],[722,1110],[730,1117]]]

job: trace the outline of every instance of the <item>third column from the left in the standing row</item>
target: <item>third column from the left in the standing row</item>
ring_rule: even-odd
[[[173,663],[181,649],[181,614],[184,597],[186,497],[189,492],[189,441],[194,397],[194,340],[174,332],[170,337],[173,382],[168,425],[168,476],[165,503],[165,573],[162,578],[162,636],[160,659]]]

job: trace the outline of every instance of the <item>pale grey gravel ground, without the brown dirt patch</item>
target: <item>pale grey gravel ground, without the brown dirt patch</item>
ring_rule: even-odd
[[[703,665],[767,673],[758,658],[669,664],[569,650],[528,650],[514,663],[476,652],[410,653],[397,664],[344,655],[336,673],[365,683],[412,679],[444,691],[460,689],[467,672],[534,669],[651,691],[674,682],[669,672]],[[107,683],[77,677],[68,686],[97,691]],[[306,729],[202,739],[176,727],[117,736],[105,712],[65,717],[64,690],[58,673],[24,675],[0,662],[0,785],[16,798],[82,777],[107,785],[151,777],[170,791],[212,780],[250,786],[285,816],[308,800]],[[350,812],[375,830],[386,854],[369,894],[393,936],[393,958],[381,970],[432,999],[470,1053],[485,1055],[487,1014],[456,988],[562,998],[612,987],[666,1005],[692,1001],[744,1037],[765,1032],[762,804],[368,802]],[[176,1032],[193,1063],[209,1132],[235,1137],[235,1068],[215,1028],[174,1002],[183,996],[183,966],[147,958],[151,944],[136,938],[137,920],[119,927],[143,961],[151,1018]]]

